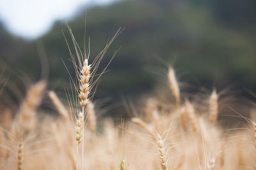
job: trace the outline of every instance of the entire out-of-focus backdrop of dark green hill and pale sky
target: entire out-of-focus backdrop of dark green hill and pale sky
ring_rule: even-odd
[[[102,60],[106,66],[121,47],[102,76],[97,97],[119,100],[156,92],[161,85],[168,88],[163,75],[170,65],[189,92],[201,87],[210,92],[212,87],[256,90],[254,0],[4,1],[1,66],[38,80],[42,58],[47,57],[49,86],[63,90],[69,81],[63,61],[72,68],[65,22],[83,47],[85,18],[92,58],[125,28]]]

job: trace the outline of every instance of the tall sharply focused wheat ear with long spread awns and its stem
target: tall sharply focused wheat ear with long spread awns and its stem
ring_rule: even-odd
[[[99,75],[97,75],[97,78],[95,78],[95,74],[97,73],[97,69],[99,68],[99,64],[100,61],[102,60],[102,58],[104,57],[104,55],[106,54],[106,51],[108,50],[109,46],[111,45],[111,43],[116,39],[116,37],[120,34],[120,29],[118,29],[118,31],[116,32],[116,34],[113,36],[113,38],[111,38],[108,43],[106,44],[105,48],[95,57],[95,59],[93,60],[92,64],[88,64],[88,59],[90,56],[90,43],[89,43],[89,51],[88,53],[86,53],[86,48],[84,46],[84,53],[81,52],[81,49],[79,48],[76,38],[74,38],[74,34],[72,33],[72,29],[70,28],[69,25],[67,25],[68,27],[68,31],[70,32],[70,36],[72,38],[72,43],[74,45],[74,48],[76,50],[76,57],[74,57],[74,55],[72,54],[70,47],[68,45],[68,50],[70,52],[71,55],[71,60],[73,62],[74,65],[74,69],[76,71],[76,76],[78,79],[78,87],[77,87],[77,81],[72,79],[71,76],[71,81],[76,89],[76,92],[79,94],[79,105],[82,108],[82,111],[79,112],[79,115],[77,115],[76,117],[76,121],[79,121],[77,124],[80,124],[80,121],[82,120],[83,122],[83,126],[84,126],[84,107],[86,106],[86,104],[89,101],[90,97],[90,91],[93,89],[93,87],[97,86],[97,82],[100,80],[100,77],[102,76],[102,74],[106,71],[106,68],[109,66],[109,63],[111,62],[111,60],[113,60],[113,58],[116,55],[116,52],[114,53],[113,57],[110,59],[110,61],[108,62],[107,66],[103,69],[102,73],[100,73]],[[65,38],[66,42],[67,39]],[[84,41],[85,41],[85,35],[84,35]],[[77,58],[77,59],[76,59]],[[77,61],[78,60],[78,64]],[[92,70],[91,70],[92,69]],[[95,80],[93,80],[95,78]],[[96,87],[95,87],[96,89]],[[77,107],[76,107],[77,108]],[[76,112],[78,113],[78,112]],[[80,118],[80,116],[82,115],[82,118]],[[76,133],[79,134],[79,131],[82,131],[82,137],[81,139],[84,140],[84,129],[80,129],[78,127],[76,127]],[[76,136],[79,136],[77,135]],[[80,136],[79,136],[80,138]],[[79,139],[77,138],[77,139]],[[78,145],[77,145],[77,150],[78,150]],[[77,155],[78,158],[78,155]],[[82,170],[84,167],[84,142],[82,143]]]

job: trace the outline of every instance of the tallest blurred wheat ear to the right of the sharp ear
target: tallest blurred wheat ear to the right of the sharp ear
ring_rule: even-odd
[[[170,67],[168,70],[168,81],[169,81],[170,89],[172,90],[172,94],[175,97],[176,107],[179,108],[180,107],[180,89],[179,89],[179,84],[177,82],[173,67]]]

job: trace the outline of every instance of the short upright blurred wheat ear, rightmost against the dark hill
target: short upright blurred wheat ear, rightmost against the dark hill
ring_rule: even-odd
[[[209,106],[210,106],[210,121],[212,124],[216,123],[218,118],[218,94],[216,90],[212,91],[212,94],[209,99]]]

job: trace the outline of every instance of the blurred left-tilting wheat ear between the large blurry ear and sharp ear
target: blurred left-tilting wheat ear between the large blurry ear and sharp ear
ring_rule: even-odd
[[[68,120],[68,111],[66,110],[64,104],[60,101],[59,97],[56,95],[55,92],[50,91],[49,97],[51,98],[52,103],[56,107],[57,111],[60,113],[61,117],[65,118],[65,120]]]

